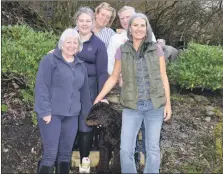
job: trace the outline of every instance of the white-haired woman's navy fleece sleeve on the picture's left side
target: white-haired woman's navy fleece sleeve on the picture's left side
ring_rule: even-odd
[[[51,55],[44,57],[39,65],[35,84],[35,111],[39,118],[51,115],[50,86],[53,64]]]

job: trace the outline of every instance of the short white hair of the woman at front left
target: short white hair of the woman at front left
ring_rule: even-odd
[[[62,49],[62,46],[63,46],[63,43],[64,41],[68,38],[68,37],[75,37],[77,38],[78,40],[78,52],[80,52],[83,48],[83,43],[81,42],[81,38],[80,38],[80,35],[78,34],[78,32],[73,29],[73,28],[67,28],[60,36],[60,40],[59,40],[59,43],[58,43],[58,48],[61,50]]]

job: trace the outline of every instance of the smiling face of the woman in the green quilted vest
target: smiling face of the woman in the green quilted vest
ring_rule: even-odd
[[[146,36],[146,21],[142,18],[133,19],[130,32],[133,39],[143,40]]]

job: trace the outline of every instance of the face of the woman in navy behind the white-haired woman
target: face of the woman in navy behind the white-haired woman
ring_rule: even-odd
[[[87,14],[81,14],[77,19],[77,28],[80,34],[86,35],[89,34],[92,30],[93,20],[92,17]]]

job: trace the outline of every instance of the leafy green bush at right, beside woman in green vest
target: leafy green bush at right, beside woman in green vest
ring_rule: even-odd
[[[223,49],[189,43],[167,71],[170,83],[182,88],[223,89]]]

